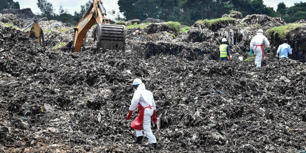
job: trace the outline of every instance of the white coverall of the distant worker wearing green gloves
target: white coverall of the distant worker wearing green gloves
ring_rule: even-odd
[[[250,43],[250,49],[253,49],[254,53],[256,54],[256,58],[255,58],[256,67],[261,67],[263,51],[260,45],[262,45],[263,43],[265,43],[266,48],[270,47],[270,42],[268,41],[267,37],[265,37],[261,32],[258,32],[257,35],[253,37]],[[256,46],[256,45],[259,45],[259,46]]]

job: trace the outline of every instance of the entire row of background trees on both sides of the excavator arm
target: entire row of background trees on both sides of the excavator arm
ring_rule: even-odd
[[[73,14],[62,6],[56,13],[53,4],[48,0],[37,0],[36,4],[43,17],[76,25],[91,3],[92,0],[88,0],[80,6],[80,11],[74,11]],[[107,17],[117,21],[132,19],[143,21],[151,17],[191,25],[198,20],[220,18],[230,10],[236,10],[244,17],[251,14],[267,14],[271,17],[282,17],[287,23],[306,19],[306,2],[295,3],[288,10],[285,10],[287,6],[281,2],[276,11],[264,5],[263,0],[118,0],[118,6],[124,17],[121,18],[114,10],[106,10]],[[0,0],[0,11],[7,8],[19,9],[20,6],[13,0]]]

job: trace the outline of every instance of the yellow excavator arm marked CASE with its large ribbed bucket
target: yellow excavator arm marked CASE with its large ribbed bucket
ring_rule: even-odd
[[[80,52],[85,47],[84,40],[88,30],[97,22],[96,27],[96,50],[94,53],[101,53],[101,50],[124,50],[125,49],[125,26],[110,24],[106,18],[106,10],[101,0],[93,0],[91,6],[83,15],[80,22],[74,28],[73,44],[70,52]]]

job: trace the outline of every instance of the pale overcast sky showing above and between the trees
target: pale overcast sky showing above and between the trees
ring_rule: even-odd
[[[19,2],[20,8],[31,8],[33,13],[40,12],[37,8],[37,0],[14,0],[14,2]],[[273,7],[274,10],[277,9],[277,5],[280,2],[284,2],[287,7],[293,6],[295,2],[306,2],[306,0],[263,0],[264,4],[270,7]],[[74,11],[80,11],[80,6],[84,5],[88,0],[49,0],[53,4],[55,12],[58,13],[59,7],[62,5],[64,9],[68,9],[70,14],[73,14]],[[114,9],[116,12],[119,12],[118,0],[102,0],[103,5],[106,9],[106,12]]]

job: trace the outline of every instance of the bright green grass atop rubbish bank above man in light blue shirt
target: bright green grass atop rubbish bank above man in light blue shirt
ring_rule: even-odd
[[[297,27],[299,27],[300,25],[301,24],[291,23],[291,24],[287,24],[287,25],[284,25],[284,26],[273,27],[273,28],[270,28],[270,29],[267,30],[267,35],[271,35],[271,33],[274,32],[274,37],[277,34],[280,39],[285,39],[285,36],[286,36],[288,31],[294,30]]]

